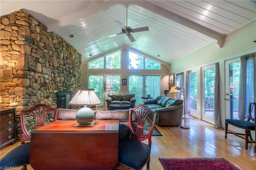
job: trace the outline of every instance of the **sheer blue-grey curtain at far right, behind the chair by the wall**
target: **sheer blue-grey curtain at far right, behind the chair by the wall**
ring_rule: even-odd
[[[250,102],[256,101],[256,53],[241,56],[238,117],[248,118]]]

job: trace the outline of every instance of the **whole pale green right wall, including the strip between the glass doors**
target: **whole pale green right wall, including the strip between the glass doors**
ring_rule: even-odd
[[[221,119],[224,126],[225,119],[228,118],[228,113],[225,113],[225,91],[224,91],[224,61],[242,55],[256,52],[256,21],[247,24],[246,26],[232,32],[226,37],[226,41],[222,48],[217,47],[216,43],[211,43],[205,47],[190,53],[189,55],[170,64],[170,73],[186,72],[191,69],[199,69],[200,67],[220,62],[220,88],[221,88]],[[184,74],[186,77],[186,74]],[[185,82],[185,81],[184,81]],[[200,90],[198,90],[200,93]],[[199,94],[200,96],[200,94]],[[200,100],[200,99],[198,99]],[[200,101],[199,101],[200,103]],[[198,108],[198,119],[201,109]],[[254,136],[254,132],[252,132]]]

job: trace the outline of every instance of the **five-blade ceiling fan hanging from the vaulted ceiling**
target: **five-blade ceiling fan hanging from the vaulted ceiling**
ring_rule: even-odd
[[[132,32],[148,31],[149,29],[148,29],[148,27],[141,27],[141,28],[132,29],[130,26],[128,26],[127,11],[128,11],[129,4],[125,4],[124,6],[126,7],[126,26],[124,26],[122,24],[122,22],[120,22],[120,21],[115,21],[115,22],[116,22],[116,24],[118,24],[118,26],[120,26],[122,28],[122,32],[119,33],[119,34],[126,34],[126,36],[129,38],[129,40],[131,42],[134,42],[135,39],[131,34]],[[116,35],[118,35],[118,34],[116,34]]]

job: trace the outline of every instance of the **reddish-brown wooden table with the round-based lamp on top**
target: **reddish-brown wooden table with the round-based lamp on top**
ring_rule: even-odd
[[[119,120],[93,126],[55,121],[31,133],[30,165],[35,170],[111,170],[118,162]]]

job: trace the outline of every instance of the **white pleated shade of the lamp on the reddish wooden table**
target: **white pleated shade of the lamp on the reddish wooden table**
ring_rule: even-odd
[[[100,99],[94,89],[79,89],[69,102],[70,105],[99,105]]]

